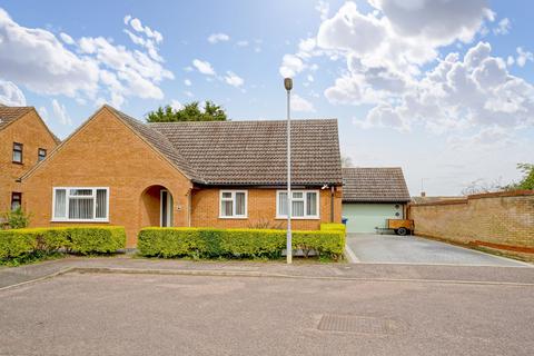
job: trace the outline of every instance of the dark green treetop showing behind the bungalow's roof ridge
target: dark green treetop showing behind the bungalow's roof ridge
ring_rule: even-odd
[[[147,122],[226,121],[226,119],[225,109],[209,100],[205,102],[204,110],[200,109],[198,101],[192,101],[179,110],[166,106],[147,115]]]

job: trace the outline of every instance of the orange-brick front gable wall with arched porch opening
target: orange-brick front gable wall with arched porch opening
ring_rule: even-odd
[[[154,186],[172,195],[175,226],[188,226],[189,179],[108,109],[98,111],[67,144],[23,179],[31,227],[119,225],[126,227],[128,247],[135,247],[138,230],[159,220],[159,205],[146,194]],[[109,222],[52,222],[53,187],[109,187]]]

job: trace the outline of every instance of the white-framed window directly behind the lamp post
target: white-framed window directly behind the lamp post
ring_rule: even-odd
[[[319,192],[317,190],[291,190],[291,218],[319,218]],[[287,191],[278,190],[276,197],[276,217],[287,218]]]

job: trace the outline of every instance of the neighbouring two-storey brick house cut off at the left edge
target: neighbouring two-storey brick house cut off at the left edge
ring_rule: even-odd
[[[22,204],[20,176],[59,144],[33,107],[0,105],[0,212]]]

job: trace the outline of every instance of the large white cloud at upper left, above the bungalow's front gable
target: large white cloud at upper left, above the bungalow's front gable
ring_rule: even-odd
[[[75,40],[65,32],[60,41],[50,31],[19,26],[0,9],[0,39],[9,39],[0,40],[0,77],[37,93],[65,95],[78,102],[103,100],[120,106],[127,97],[161,99],[160,81],[174,78],[158,55],[156,44],[162,36],[130,16],[125,23],[137,32],[125,30],[142,50],[102,37]]]

